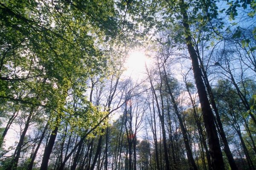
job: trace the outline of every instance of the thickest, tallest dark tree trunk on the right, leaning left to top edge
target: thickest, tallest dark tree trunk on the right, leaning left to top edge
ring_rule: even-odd
[[[189,18],[186,12],[186,6],[183,0],[180,0],[180,11],[183,17],[183,27],[186,34],[186,45],[189,51],[189,56],[192,60],[193,73],[195,78],[195,84],[198,90],[198,97],[201,104],[201,109],[204,118],[204,125],[207,132],[209,152],[212,159],[212,167],[214,170],[224,170],[224,161],[222,158],[221,147],[218,139],[218,133],[214,124],[214,115],[212,113],[211,106],[209,104],[209,99],[207,97],[207,92],[205,89],[204,81],[202,79],[201,68],[198,63],[197,53],[192,46],[192,37],[189,28]]]

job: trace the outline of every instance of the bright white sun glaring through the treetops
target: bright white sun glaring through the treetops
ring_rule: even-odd
[[[145,65],[151,65],[151,59],[146,56],[145,51],[135,50],[128,53],[128,59],[125,61],[126,76],[131,76],[133,79],[142,78],[145,76]]]

